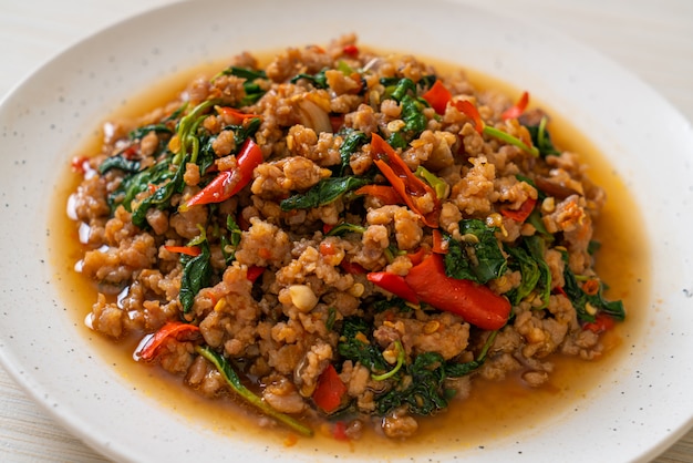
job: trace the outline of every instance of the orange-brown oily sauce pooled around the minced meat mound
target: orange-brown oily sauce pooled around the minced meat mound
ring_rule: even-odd
[[[268,53],[269,55],[269,53]],[[432,62],[432,61],[427,61]],[[451,65],[433,62],[441,74]],[[198,68],[157,84],[155,93],[147,93],[146,99],[131,99],[114,117],[132,117],[164,104],[185,83],[198,74],[214,75],[224,63],[214,63]],[[488,79],[467,70],[467,74],[477,89],[494,88],[517,97],[519,91],[503,82]],[[531,89],[528,89],[531,92]],[[138,103],[141,102],[141,103]],[[60,280],[65,306],[74,317],[75,330],[89,337],[94,351],[106,364],[113,364],[123,378],[132,383],[133,393],[143,394],[153,407],[172,409],[177,416],[187,418],[192,424],[228,435],[230,440],[257,439],[258,445],[290,445],[291,451],[304,451],[316,454],[349,453],[351,456],[408,457],[425,454],[427,450],[446,449],[449,451],[470,447],[492,447],[494,441],[511,436],[518,430],[524,432],[539,430],[551,420],[566,416],[586,400],[587,392],[610,381],[616,374],[619,359],[627,354],[631,342],[642,333],[639,315],[645,310],[644,301],[649,295],[649,249],[643,236],[641,215],[618,174],[598,153],[596,147],[582,134],[573,130],[560,111],[552,111],[550,105],[532,104],[542,107],[551,115],[549,130],[557,146],[580,154],[589,165],[588,175],[607,192],[607,205],[596,223],[596,239],[602,243],[597,255],[597,271],[610,286],[607,297],[622,299],[627,308],[627,321],[607,335],[603,342],[607,354],[597,361],[582,361],[575,358],[555,357],[555,371],[547,384],[530,389],[523,385],[518,378],[508,378],[501,382],[475,381],[472,395],[465,401],[453,401],[449,409],[433,419],[420,420],[417,435],[406,442],[392,442],[373,432],[364,433],[356,442],[339,442],[329,438],[327,430],[316,430],[312,439],[293,439],[282,429],[268,432],[257,424],[257,415],[242,405],[229,400],[207,400],[197,395],[182,383],[180,377],[173,377],[158,368],[143,366],[132,358],[133,342],[114,343],[92,332],[84,326],[84,318],[91,311],[96,299],[93,286],[74,271],[74,264],[82,257],[77,239],[76,225],[66,217],[65,204],[71,192],[80,182],[77,175],[70,172],[70,160],[65,160],[64,183],[54,197],[51,208],[52,260],[56,280]],[[97,153],[101,134],[85,141],[76,155]],[[322,453],[324,452],[324,453]]]

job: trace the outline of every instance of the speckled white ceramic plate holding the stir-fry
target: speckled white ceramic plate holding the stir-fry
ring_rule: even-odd
[[[208,60],[353,31],[361,42],[467,65],[550,102],[632,189],[653,256],[641,336],[628,339],[628,354],[579,407],[531,432],[462,450],[431,444],[401,460],[644,462],[680,438],[693,418],[693,133],[685,120],[597,53],[515,20],[410,0],[287,4],[205,0],[132,18],[60,54],[2,102],[0,352],[8,371],[75,435],[120,461],[363,460],[346,446],[318,455],[215,432],[146,397],[69,316],[46,240],[60,166],[130,96]]]

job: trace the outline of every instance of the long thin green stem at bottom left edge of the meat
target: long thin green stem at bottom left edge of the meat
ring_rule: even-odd
[[[215,368],[219,371],[219,373],[221,373],[224,380],[234,390],[234,392],[236,392],[242,400],[248,402],[250,405],[255,407],[266,415],[273,418],[280,423],[286,424],[292,431],[296,431],[301,435],[313,435],[313,431],[310,428],[306,426],[304,424],[300,423],[288,414],[275,410],[269,403],[250,392],[250,390],[248,390],[248,388],[246,388],[241,383],[240,378],[238,377],[236,371],[234,371],[230,362],[221,354],[211,350],[211,348],[207,346],[196,346],[195,351],[203,356],[205,359],[209,360],[211,364],[214,364]]]

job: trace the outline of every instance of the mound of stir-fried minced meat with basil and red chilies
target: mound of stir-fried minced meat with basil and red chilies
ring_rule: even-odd
[[[541,387],[624,310],[603,191],[529,103],[353,35],[236,56],[74,162],[87,325],[303,435],[406,439],[477,378]]]

